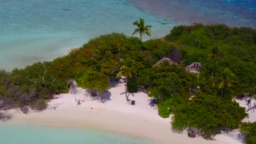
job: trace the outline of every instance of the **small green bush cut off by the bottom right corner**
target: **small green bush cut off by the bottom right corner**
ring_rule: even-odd
[[[247,144],[256,144],[256,122],[242,123],[240,132],[245,134],[245,142]]]

